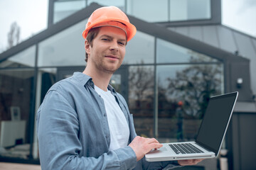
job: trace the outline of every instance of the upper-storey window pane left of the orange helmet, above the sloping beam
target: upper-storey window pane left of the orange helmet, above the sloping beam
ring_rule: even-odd
[[[53,23],[63,20],[71,14],[85,8],[85,0],[58,0],[54,2]]]

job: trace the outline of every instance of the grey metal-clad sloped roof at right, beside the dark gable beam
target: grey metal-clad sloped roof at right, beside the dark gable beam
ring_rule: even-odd
[[[256,38],[223,25],[171,27],[176,33],[250,60],[251,87],[256,94]]]

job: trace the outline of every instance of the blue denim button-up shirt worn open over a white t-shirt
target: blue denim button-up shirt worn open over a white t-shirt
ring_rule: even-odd
[[[136,137],[132,114],[124,98],[108,86]],[[38,108],[37,133],[42,170],[50,169],[172,169],[176,162],[137,162],[129,146],[109,150],[110,129],[103,99],[91,77],[75,72],[54,84]],[[129,145],[129,143],[127,144]]]

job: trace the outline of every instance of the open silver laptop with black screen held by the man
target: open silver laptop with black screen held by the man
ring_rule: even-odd
[[[208,102],[195,142],[164,143],[145,155],[148,162],[217,157],[228,129],[238,92],[213,96]]]

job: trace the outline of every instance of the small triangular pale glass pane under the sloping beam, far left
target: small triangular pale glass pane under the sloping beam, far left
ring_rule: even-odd
[[[18,54],[9,57],[0,63],[1,68],[8,67],[35,67],[36,45],[28,47],[26,50],[18,52]]]

